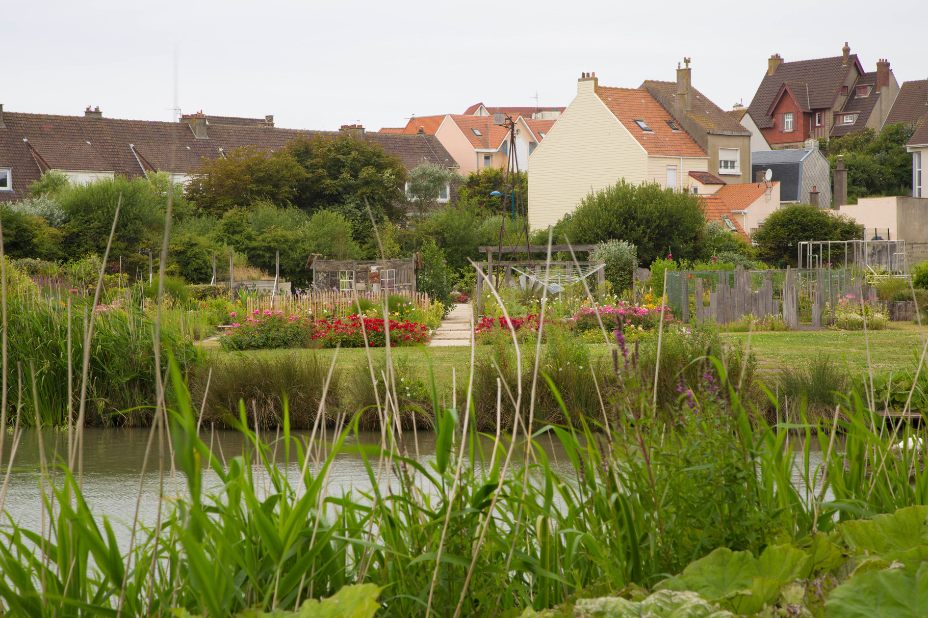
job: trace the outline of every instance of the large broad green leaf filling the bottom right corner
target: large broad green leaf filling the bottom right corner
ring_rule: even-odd
[[[928,617],[928,562],[917,573],[883,569],[860,573],[831,591],[827,618]]]

